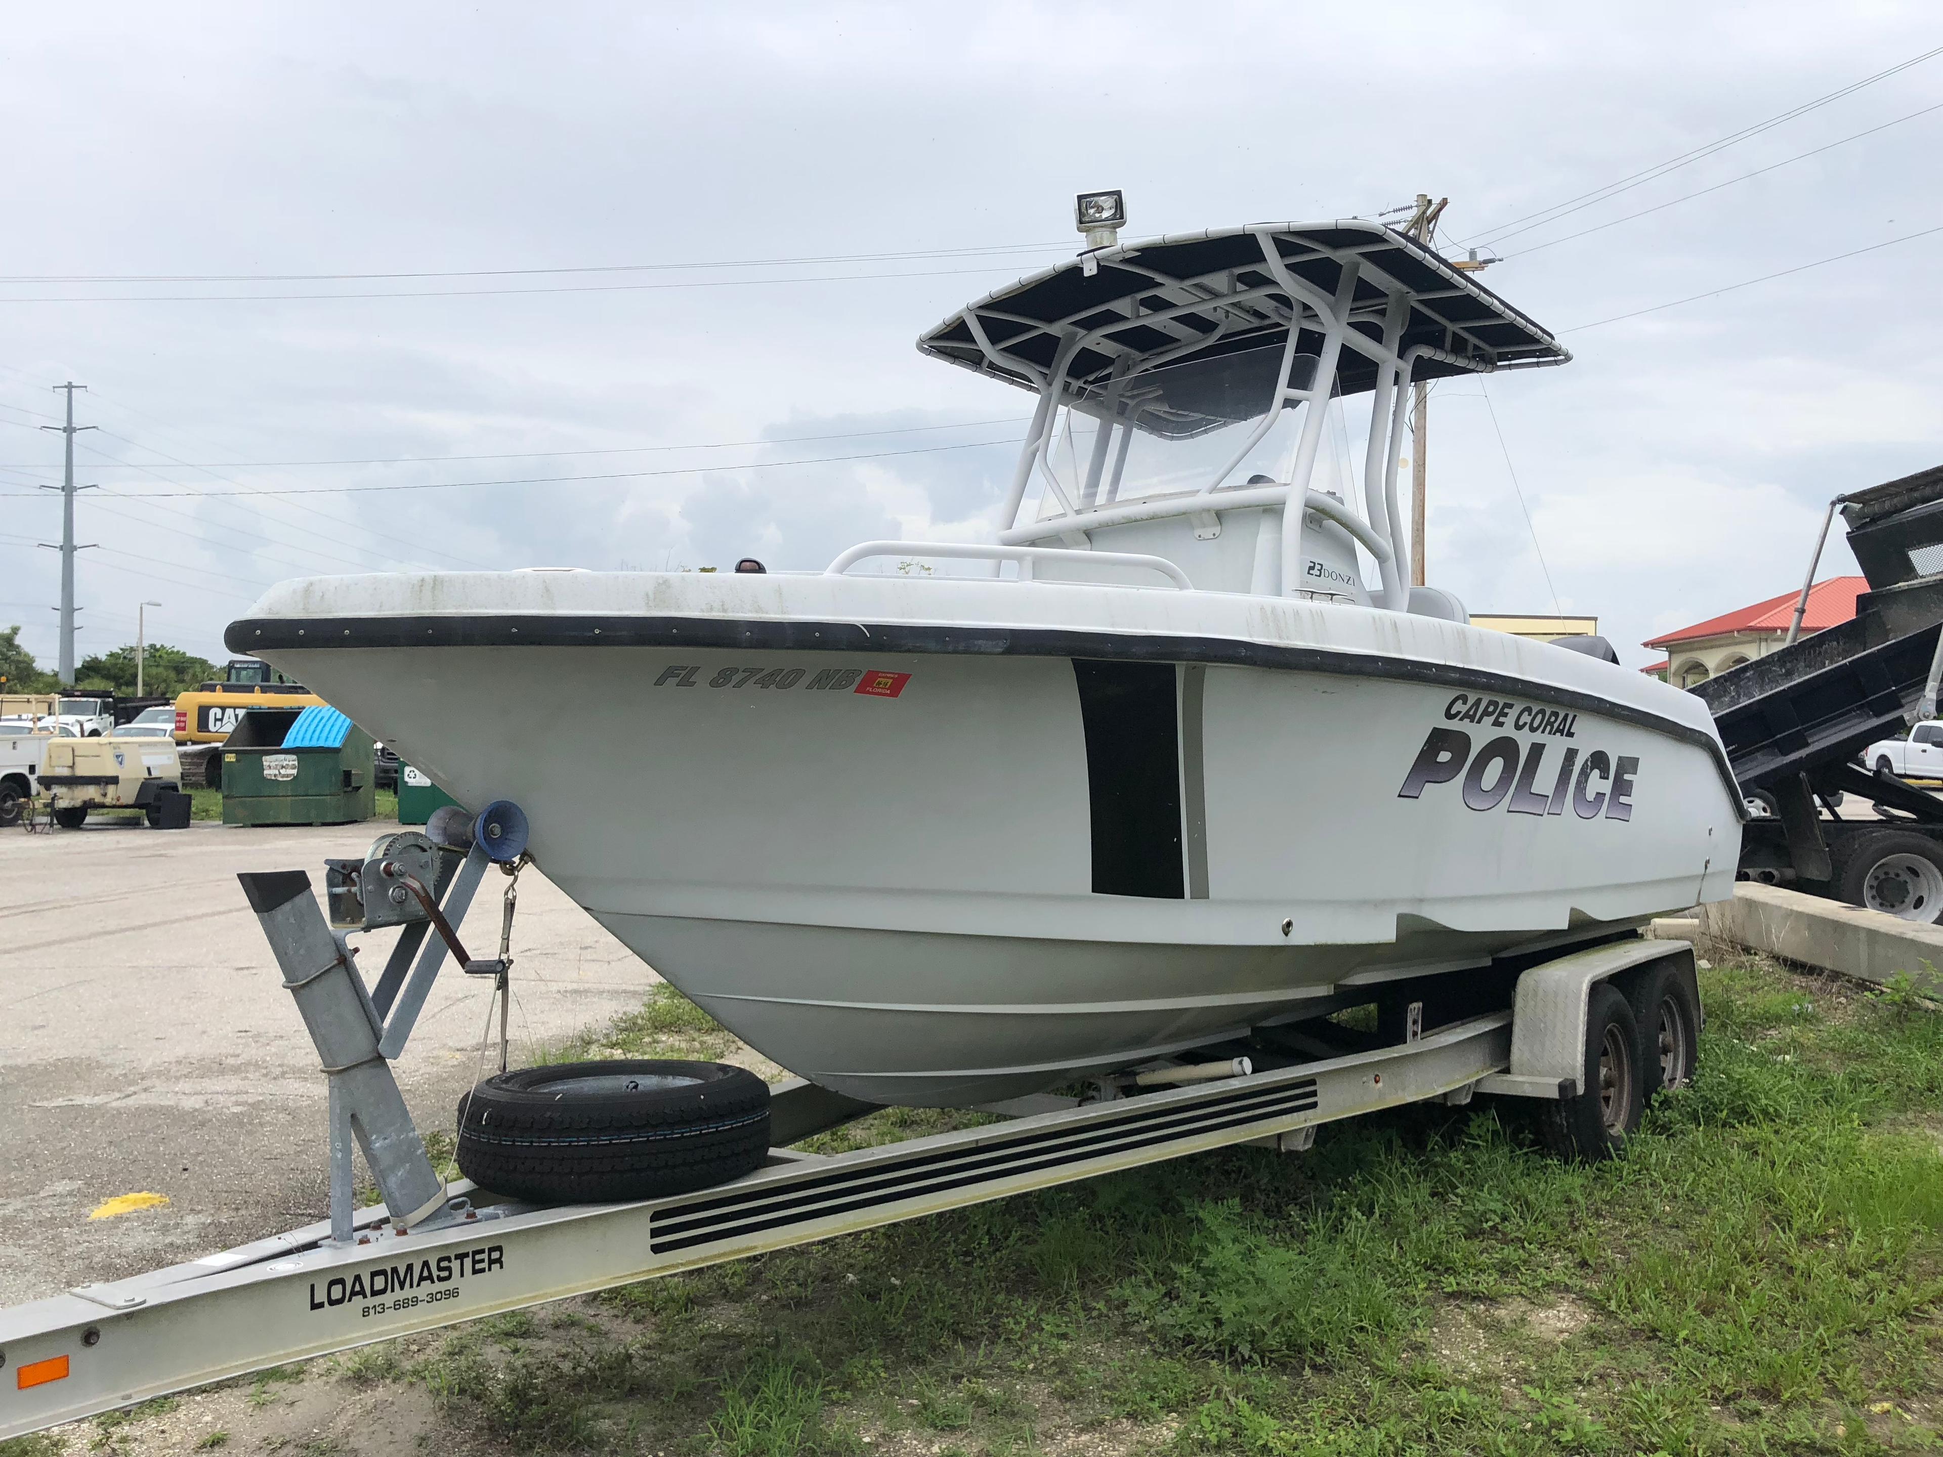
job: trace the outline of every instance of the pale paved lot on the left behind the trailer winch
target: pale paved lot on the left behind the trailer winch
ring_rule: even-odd
[[[323,1216],[324,1080],[235,874],[307,870],[321,892],[324,857],[396,828],[0,833],[0,1305]],[[482,954],[499,886],[466,921]],[[359,960],[381,967],[394,934]],[[655,983],[532,868],[513,956],[517,1057]],[[447,967],[396,1065],[420,1127],[453,1127],[488,1006],[488,981]],[[169,1204],[87,1218],[136,1191]]]

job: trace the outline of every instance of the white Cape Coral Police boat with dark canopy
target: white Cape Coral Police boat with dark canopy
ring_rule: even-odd
[[[1729,896],[1745,810],[1700,699],[1409,585],[1411,383],[1566,350],[1372,221],[1088,243],[919,340],[1038,394],[995,542],[319,577],[225,641],[460,802],[519,802],[548,878],[668,981],[884,1103]]]

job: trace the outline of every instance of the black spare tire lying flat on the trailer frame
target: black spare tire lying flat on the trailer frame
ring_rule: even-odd
[[[460,1173],[536,1204],[680,1195],[767,1156],[769,1086],[727,1063],[556,1063],[459,1100]]]

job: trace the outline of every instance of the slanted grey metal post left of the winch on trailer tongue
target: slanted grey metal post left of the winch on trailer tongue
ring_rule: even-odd
[[[330,1080],[330,1224],[350,1234],[350,1144],[363,1148],[379,1195],[400,1228],[445,1222],[445,1185],[426,1156],[391,1063],[379,1051],[377,1008],[330,934],[303,870],[239,874],[243,894],[284,971]],[[340,1228],[342,1226],[342,1228]]]

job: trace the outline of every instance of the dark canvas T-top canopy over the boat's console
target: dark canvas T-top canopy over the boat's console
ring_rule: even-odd
[[[1129,356],[1133,369],[1158,356],[1168,356],[1168,367],[1179,369],[1212,363],[1228,354],[1280,350],[1288,338],[1290,299],[1278,291],[1267,266],[1263,235],[1273,239],[1296,278],[1329,297],[1341,284],[1345,260],[1358,254],[1362,270],[1350,326],[1372,340],[1381,338],[1389,295],[1405,291],[1411,295],[1411,315],[1403,350],[1428,344],[1492,369],[1564,363],[1572,357],[1545,328],[1471,274],[1451,268],[1416,239],[1362,220],[1263,223],[1100,249],[1092,254],[1096,270],[1090,276],[1084,270],[1088,254],[1080,254],[1022,278],[966,305],[925,332],[917,348],[1038,392],[1061,338],[1100,330],[1096,340],[1078,350],[1067,371],[1071,385],[1094,396],[1104,392],[1115,363]],[[1267,289],[1267,295],[1222,301],[1224,295],[1247,289]],[[1183,307],[1185,313],[1154,317]],[[973,319],[997,359],[979,348]],[[1321,354],[1323,340],[1313,322],[1312,315],[1296,344],[1298,352]],[[1205,348],[1195,348],[1201,338],[1207,340]],[[1337,363],[1337,389],[1343,394],[1374,389],[1376,373],[1372,359],[1345,348]],[[1461,373],[1471,371],[1461,363],[1418,359],[1413,379]],[[1189,406],[1185,412],[1146,412],[1139,424],[1160,435],[1193,435],[1232,424],[1234,418],[1228,410],[1199,414]]]

